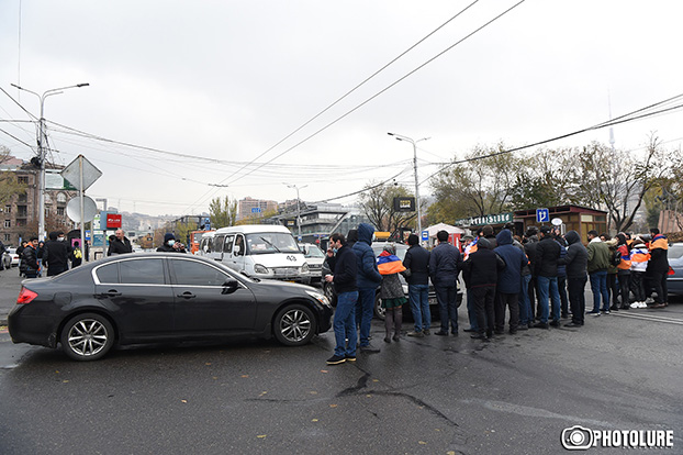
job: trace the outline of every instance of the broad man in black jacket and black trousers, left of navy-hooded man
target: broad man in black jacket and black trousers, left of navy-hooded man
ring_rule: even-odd
[[[470,284],[469,291],[474,297],[478,332],[472,339],[485,340],[493,336],[495,287],[499,271],[505,268],[505,262],[491,248],[491,243],[480,237],[477,251],[462,263],[464,279]],[[486,336],[484,336],[484,328]]]

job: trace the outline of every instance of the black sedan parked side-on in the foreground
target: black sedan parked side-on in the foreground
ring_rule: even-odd
[[[114,344],[275,336],[299,346],[331,328],[314,288],[257,281],[220,263],[177,253],[127,254],[29,279],[8,318],[14,343],[61,344],[94,360]]]

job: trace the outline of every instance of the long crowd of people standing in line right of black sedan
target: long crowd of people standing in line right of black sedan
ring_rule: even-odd
[[[581,328],[585,314],[668,306],[669,244],[656,228],[649,236],[619,233],[614,238],[590,231],[584,245],[576,231],[561,235],[557,228],[530,226],[519,236],[508,224],[494,235],[493,228],[485,225],[477,236],[462,237],[462,252],[449,242],[446,231],[437,233],[438,244],[432,251],[411,234],[403,260],[392,244],[374,257],[370,247],[373,232],[370,224],[362,223],[349,232],[349,238],[340,233],[331,236],[331,273],[325,280],[334,285],[337,309],[333,323],[336,346],[327,359],[329,365],[355,360],[357,349],[379,351],[370,345],[369,336],[378,289],[385,310],[384,342],[401,340],[406,298],[399,274],[408,285],[414,328],[407,336],[414,337],[459,335],[460,274],[469,319],[463,332],[477,340],[504,334],[506,318],[508,333],[515,334],[559,328],[562,319],[570,318],[564,326]],[[432,332],[429,281],[439,308],[436,332]],[[593,293],[590,310],[585,303],[587,282]]]

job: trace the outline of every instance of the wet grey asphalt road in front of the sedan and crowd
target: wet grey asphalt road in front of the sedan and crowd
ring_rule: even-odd
[[[632,452],[683,453],[681,303],[488,343],[388,345],[379,322],[372,333],[380,353],[338,366],[325,365],[332,333],[299,348],[164,345],[96,363],[0,333],[0,452],[557,454],[562,431],[582,425],[673,431],[673,448]]]

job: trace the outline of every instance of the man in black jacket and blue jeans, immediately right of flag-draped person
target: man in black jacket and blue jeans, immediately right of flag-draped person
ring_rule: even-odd
[[[411,247],[405,253],[403,267],[406,269],[407,293],[415,321],[415,330],[407,336],[429,334],[432,313],[429,312],[429,252],[419,245],[419,237],[411,234],[407,237]]]

